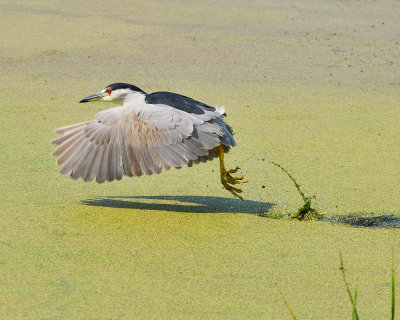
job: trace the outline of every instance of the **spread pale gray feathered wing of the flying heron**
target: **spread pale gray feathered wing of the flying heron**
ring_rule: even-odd
[[[166,105],[107,109],[55,132],[60,172],[99,183],[190,166],[221,143],[235,145],[216,112],[196,115]]]

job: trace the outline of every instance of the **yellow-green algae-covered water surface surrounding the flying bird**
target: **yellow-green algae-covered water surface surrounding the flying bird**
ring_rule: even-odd
[[[326,217],[400,218],[399,2],[3,0],[0,14],[0,318],[291,319],[281,291],[298,319],[347,319],[339,251],[360,316],[389,317],[400,231],[285,219],[302,199],[269,161]],[[107,108],[78,101],[117,81],[225,105],[245,200],[216,161],[102,185],[58,174],[53,130]]]

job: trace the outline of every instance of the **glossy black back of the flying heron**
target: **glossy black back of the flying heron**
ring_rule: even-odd
[[[215,111],[213,107],[205,103],[166,91],[154,92],[147,95],[146,102],[149,104],[166,104],[173,108],[194,114],[203,114],[204,110]]]

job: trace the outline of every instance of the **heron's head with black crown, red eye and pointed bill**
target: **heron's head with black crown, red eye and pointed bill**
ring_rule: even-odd
[[[146,93],[142,89],[132,84],[117,82],[108,85],[98,93],[92,94],[82,99],[81,101],[79,101],[79,103],[91,101],[113,101],[123,103],[127,97],[135,94],[146,95]]]

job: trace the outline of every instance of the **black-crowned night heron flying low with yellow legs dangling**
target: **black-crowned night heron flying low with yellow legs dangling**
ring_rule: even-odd
[[[60,173],[85,181],[120,180],[123,176],[160,173],[161,169],[192,166],[219,157],[221,182],[242,199],[242,177],[226,170],[224,153],[236,145],[232,129],[213,108],[171,93],[145,93],[127,83],[113,83],[80,102],[111,101],[121,106],[101,111],[90,120],[57,129],[53,152]]]

